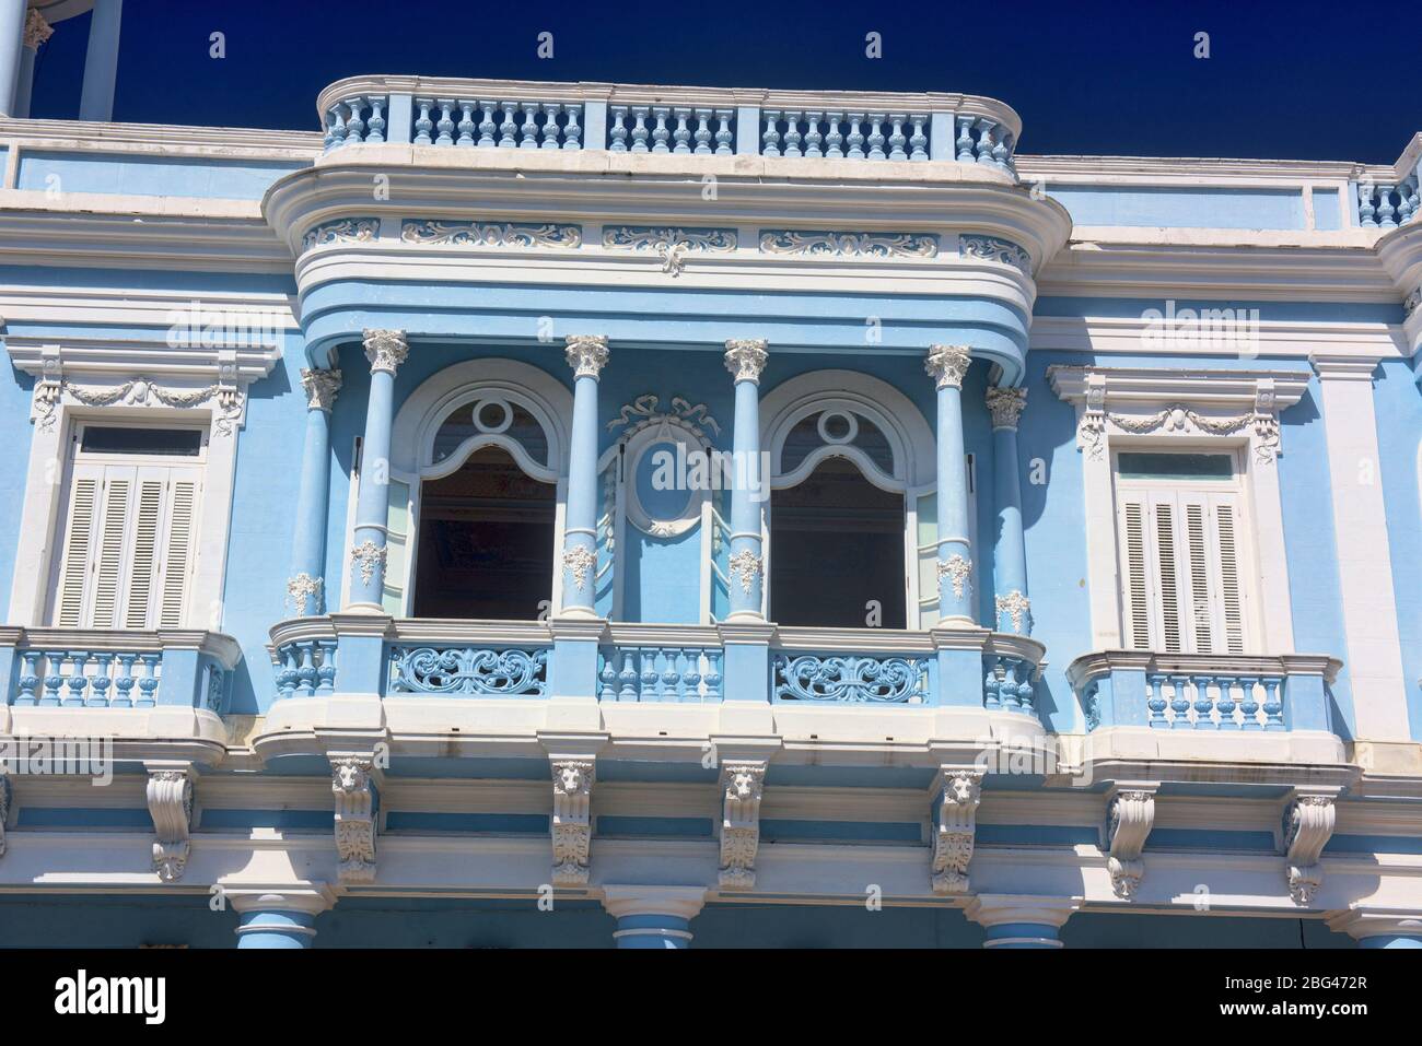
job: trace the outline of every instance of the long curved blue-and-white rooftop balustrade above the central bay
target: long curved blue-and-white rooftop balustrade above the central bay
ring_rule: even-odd
[[[1017,114],[956,94],[757,91],[431,77],[354,77],[317,111],[327,152],[606,149],[789,159],[948,161],[1015,176]]]

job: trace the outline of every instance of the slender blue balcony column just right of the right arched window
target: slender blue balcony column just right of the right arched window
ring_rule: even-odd
[[[967,345],[931,345],[924,370],[939,388],[939,617],[941,624],[977,624],[973,613],[973,549],[968,543],[968,485],[963,453],[963,377]]]

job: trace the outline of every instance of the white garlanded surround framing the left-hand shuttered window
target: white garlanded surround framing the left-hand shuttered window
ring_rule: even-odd
[[[34,435],[10,586],[11,624],[43,627],[50,621],[50,578],[64,540],[60,506],[67,490],[67,449],[75,424],[92,421],[209,428],[196,561],[183,627],[222,628],[228,524],[247,382],[269,372],[280,352],[272,350],[264,362],[253,367],[249,360],[239,361],[235,350],[193,350],[188,370],[168,375],[129,365],[139,348],[71,354],[68,348],[46,345],[33,358],[11,357],[20,370],[37,378],[30,409]],[[70,365],[71,355],[82,361],[82,368]]]

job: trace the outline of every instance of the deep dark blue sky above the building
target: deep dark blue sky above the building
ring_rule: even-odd
[[[964,91],[1022,114],[1035,153],[1392,162],[1422,129],[1406,4],[375,3],[125,0],[115,118],[316,129],[361,72]],[[535,54],[540,31],[555,57]],[[865,34],[883,58],[865,57]],[[208,55],[226,34],[226,58]],[[1193,57],[1210,34],[1207,60]],[[40,55],[36,117],[78,111],[88,16]]]

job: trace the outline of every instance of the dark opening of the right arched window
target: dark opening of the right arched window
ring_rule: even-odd
[[[785,625],[904,627],[904,497],[826,458],[771,496],[771,614]]]

